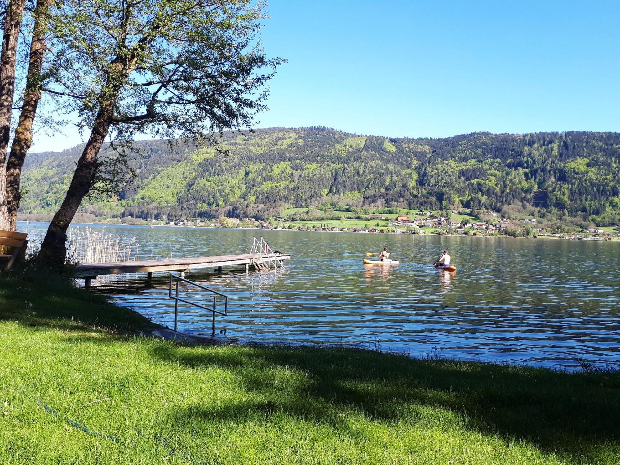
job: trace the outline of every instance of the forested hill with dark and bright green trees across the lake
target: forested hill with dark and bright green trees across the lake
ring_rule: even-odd
[[[221,149],[139,143],[135,188],[82,211],[144,219],[267,218],[286,206],[533,205],[549,215],[618,221],[620,133],[473,133],[448,138],[360,136],[329,128],[226,133]],[[22,212],[53,213],[79,147],[30,154]]]

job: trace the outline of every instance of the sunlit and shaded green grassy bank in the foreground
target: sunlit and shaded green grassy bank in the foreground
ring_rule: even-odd
[[[147,324],[68,286],[1,280],[1,463],[618,463],[618,374],[101,328]]]

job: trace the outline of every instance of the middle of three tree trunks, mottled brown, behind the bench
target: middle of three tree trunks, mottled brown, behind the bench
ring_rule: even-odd
[[[30,59],[24,94],[24,105],[19,115],[15,137],[6,166],[6,201],[9,215],[9,229],[17,229],[17,209],[22,196],[19,182],[24,160],[32,145],[32,123],[37,115],[38,102],[41,99],[41,68],[45,56],[45,32],[48,29],[48,13],[52,0],[37,0],[35,24],[30,42]]]

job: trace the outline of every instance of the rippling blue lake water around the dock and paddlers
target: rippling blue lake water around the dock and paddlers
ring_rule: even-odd
[[[47,225],[20,223],[20,231]],[[92,225],[97,231],[101,225]],[[262,235],[293,254],[285,268],[187,274],[229,295],[216,330],[241,340],[351,343],[414,356],[574,368],[620,363],[620,242],[330,232],[106,226],[136,237],[142,259],[237,254]],[[393,267],[368,267],[388,247]],[[448,249],[458,271],[428,268]],[[601,265],[602,263],[602,265]],[[168,275],[93,281],[93,291],[172,327]],[[184,287],[184,296],[200,292]],[[179,329],[210,335],[202,311],[180,310]],[[220,335],[223,337],[224,333]]]

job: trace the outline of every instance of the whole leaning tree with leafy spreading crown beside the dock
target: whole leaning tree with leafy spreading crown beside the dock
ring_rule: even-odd
[[[70,108],[91,134],[42,260],[64,262],[66,230],[101,174],[108,136],[125,147],[136,133],[213,142],[218,131],[250,128],[281,61],[257,41],[264,17],[263,4],[249,0],[64,3],[56,21],[62,58],[50,91],[73,99]],[[119,159],[125,156],[121,149]]]

